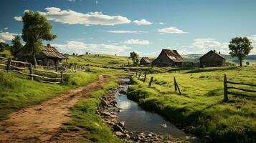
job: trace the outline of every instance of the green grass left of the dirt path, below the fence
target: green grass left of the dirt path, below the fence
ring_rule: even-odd
[[[65,85],[44,84],[16,73],[0,71],[0,119],[15,109],[37,104],[68,89],[97,80],[97,74],[79,72],[65,77]]]

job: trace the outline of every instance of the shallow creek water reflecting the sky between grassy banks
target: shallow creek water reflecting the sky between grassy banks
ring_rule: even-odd
[[[128,82],[130,79],[121,79],[125,84],[123,86],[124,91],[128,89]],[[183,130],[177,128],[174,124],[167,121],[160,115],[152,112],[147,112],[138,106],[136,102],[127,98],[126,94],[117,94],[115,97],[118,103],[118,108],[122,109],[118,115],[118,122],[125,121],[125,128],[130,132],[153,132],[156,134],[171,134],[175,138],[188,139],[189,142],[199,142],[199,139],[192,137],[189,134],[183,132]],[[167,127],[162,127],[166,124]]]

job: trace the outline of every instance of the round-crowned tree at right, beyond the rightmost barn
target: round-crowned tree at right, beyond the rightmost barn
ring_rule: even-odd
[[[229,50],[231,50],[229,54],[232,57],[237,56],[240,61],[240,66],[242,66],[242,60],[248,56],[252,49],[252,42],[246,36],[237,36],[229,42]]]

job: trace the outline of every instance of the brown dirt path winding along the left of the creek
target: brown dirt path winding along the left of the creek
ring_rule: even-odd
[[[70,107],[106,82],[108,77],[100,75],[97,82],[9,114],[9,119],[0,121],[0,142],[49,142],[51,137],[58,134],[62,122],[70,119],[65,116],[70,112]]]

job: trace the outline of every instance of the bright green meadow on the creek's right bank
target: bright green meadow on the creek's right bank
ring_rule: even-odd
[[[256,142],[255,98],[229,95],[230,101],[222,102],[224,74],[229,81],[255,84],[255,71],[252,67],[184,70],[150,74],[146,82],[133,77],[128,97],[181,127],[194,126],[191,132],[202,137],[209,134],[214,142]],[[148,87],[151,76],[154,81]],[[174,77],[182,95],[174,91]]]

